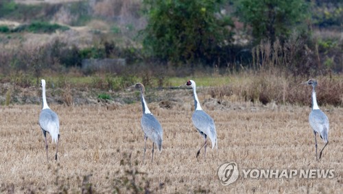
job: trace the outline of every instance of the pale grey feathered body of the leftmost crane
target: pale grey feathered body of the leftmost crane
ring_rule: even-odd
[[[39,115],[39,126],[42,128],[43,133],[50,133],[52,141],[58,141],[60,122],[58,115],[54,111],[51,111],[51,109],[43,109]]]

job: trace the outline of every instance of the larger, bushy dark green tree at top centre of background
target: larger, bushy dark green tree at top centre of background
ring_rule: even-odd
[[[143,46],[152,56],[173,62],[210,59],[231,42],[232,20],[220,14],[220,0],[145,0]]]

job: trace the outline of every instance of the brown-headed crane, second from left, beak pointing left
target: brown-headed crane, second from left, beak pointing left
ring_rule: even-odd
[[[163,141],[163,129],[161,127],[160,122],[156,120],[156,117],[152,115],[150,110],[147,108],[147,103],[144,99],[144,92],[145,87],[142,83],[136,83],[135,85],[132,85],[128,88],[135,88],[138,89],[141,92],[141,103],[143,107],[143,115],[141,118],[141,128],[144,132],[144,153],[143,153],[143,161],[145,158],[145,148],[146,148],[146,142],[147,138],[152,140],[152,161],[154,161],[154,144],[156,143],[156,146],[158,150],[162,149],[162,141]]]

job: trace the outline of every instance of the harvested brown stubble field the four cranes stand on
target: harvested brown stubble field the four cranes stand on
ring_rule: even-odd
[[[218,150],[208,148],[206,159],[203,152],[197,159],[203,140],[191,123],[193,99],[184,97],[171,109],[149,103],[164,130],[163,150],[155,150],[153,163],[150,140],[142,161],[139,102],[111,109],[50,105],[60,117],[61,138],[55,162],[56,145],[49,136],[49,163],[38,126],[41,107],[1,107],[0,192],[343,193],[341,107],[322,107],[330,121],[330,143],[322,161],[316,161],[309,107],[242,102],[228,109],[209,109],[203,105],[215,120]],[[204,96],[200,100],[204,102]],[[322,146],[318,137],[318,149]],[[335,177],[252,179],[240,174],[235,183],[222,186],[217,169],[230,161],[239,169],[334,169]]]

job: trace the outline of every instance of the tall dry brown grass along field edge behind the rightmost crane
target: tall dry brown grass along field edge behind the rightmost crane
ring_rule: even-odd
[[[274,72],[273,72],[274,71]],[[230,75],[230,82],[220,87],[210,87],[212,98],[232,101],[270,102],[277,104],[311,105],[311,90],[308,85],[300,85],[307,77],[287,77],[284,72],[272,70],[241,72]],[[343,105],[343,79],[334,77],[315,77],[317,100],[320,105]]]

